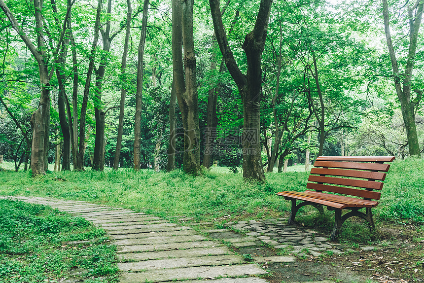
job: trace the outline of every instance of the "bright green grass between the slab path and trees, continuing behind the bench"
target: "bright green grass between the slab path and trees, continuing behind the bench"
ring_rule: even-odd
[[[375,220],[423,222],[424,160],[395,160],[390,166],[380,204],[373,209]],[[171,173],[132,169],[51,172],[36,178],[27,172],[2,171],[0,195],[84,200],[154,213],[168,219],[194,217],[194,221],[220,222],[277,217],[286,215],[290,202],[277,197],[276,192],[305,190],[309,173],[303,171],[304,165],[290,169],[293,171],[266,174],[264,184],[243,181],[242,174],[218,167],[202,177],[192,177],[178,170]],[[299,216],[310,212],[318,214],[314,208],[304,207]],[[334,219],[333,212],[327,213]],[[314,221],[325,226],[327,220]]]

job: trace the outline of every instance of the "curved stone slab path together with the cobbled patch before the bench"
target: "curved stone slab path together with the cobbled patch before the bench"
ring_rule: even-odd
[[[211,229],[213,223],[181,226],[154,215],[83,201],[21,196],[0,198],[48,205],[101,226],[110,243],[117,246],[121,283],[202,283],[205,280],[210,283],[266,283],[268,272],[260,267],[264,263],[294,262],[295,256],[308,258],[322,253],[355,252],[329,243],[328,236],[318,235],[316,231],[288,226],[285,218],[227,222],[223,229]],[[196,226],[201,232],[188,225]],[[229,248],[234,247],[242,253],[244,248],[255,249],[256,246],[259,249],[257,247],[263,245],[289,251],[290,256],[250,255],[248,262]],[[365,248],[375,247],[362,247]]]

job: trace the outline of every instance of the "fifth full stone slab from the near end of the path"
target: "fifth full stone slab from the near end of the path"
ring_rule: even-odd
[[[116,246],[132,246],[132,245],[151,245],[151,244],[170,244],[182,242],[196,242],[204,241],[206,237],[202,235],[189,235],[189,236],[158,236],[148,237],[142,239],[124,239],[113,241],[112,244]]]

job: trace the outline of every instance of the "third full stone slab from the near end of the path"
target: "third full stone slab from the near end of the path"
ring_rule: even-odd
[[[189,248],[189,249],[174,249],[164,251],[147,251],[138,253],[122,253],[118,254],[120,261],[142,261],[149,259],[170,259],[178,257],[189,257],[189,256],[204,256],[204,255],[224,255],[234,254],[227,247],[214,247],[214,248]]]

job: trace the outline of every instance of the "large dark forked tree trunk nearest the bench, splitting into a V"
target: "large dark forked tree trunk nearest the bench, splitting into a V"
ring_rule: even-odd
[[[247,58],[247,73],[237,65],[222,23],[219,0],[210,0],[213,28],[225,64],[243,101],[243,177],[265,180],[260,145],[260,98],[262,85],[261,55],[264,50],[272,0],[261,0],[253,30],[242,48]]]

